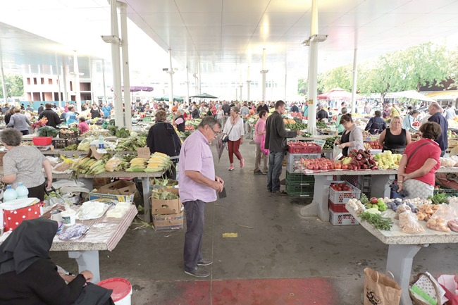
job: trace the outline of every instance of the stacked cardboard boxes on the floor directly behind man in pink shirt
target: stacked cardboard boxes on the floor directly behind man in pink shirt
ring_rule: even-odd
[[[178,195],[178,188],[164,188]],[[156,231],[178,230],[183,228],[183,211],[180,199],[159,200],[151,197],[151,213]]]

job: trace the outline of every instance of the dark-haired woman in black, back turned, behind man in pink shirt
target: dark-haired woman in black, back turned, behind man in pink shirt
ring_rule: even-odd
[[[156,111],[156,123],[149,128],[147,136],[147,147],[151,154],[156,151],[170,156],[173,162],[178,162],[180,156],[181,141],[175,132],[175,128],[171,123],[166,122],[166,111]],[[173,166],[170,172],[167,172],[168,178],[176,178],[176,169]]]

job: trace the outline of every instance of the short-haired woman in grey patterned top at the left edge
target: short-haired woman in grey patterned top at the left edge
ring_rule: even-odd
[[[51,189],[51,163],[36,147],[20,145],[23,134],[19,130],[6,128],[0,132],[1,142],[8,152],[3,158],[4,175],[0,182],[18,187],[19,182],[29,189],[29,197],[44,199],[44,187]],[[47,179],[42,173],[46,173]]]

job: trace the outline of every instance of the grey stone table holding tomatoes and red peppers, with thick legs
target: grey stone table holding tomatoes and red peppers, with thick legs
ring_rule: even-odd
[[[458,168],[439,168],[436,173],[458,173]],[[302,216],[318,216],[329,221],[329,186],[342,175],[371,175],[371,197],[390,197],[390,184],[395,180],[397,170],[329,170],[321,173],[306,173],[315,177],[314,199],[311,204],[301,208]]]

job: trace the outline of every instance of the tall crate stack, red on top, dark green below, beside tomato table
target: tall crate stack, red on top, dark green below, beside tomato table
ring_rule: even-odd
[[[320,158],[319,145],[304,145],[302,142],[288,143],[286,154],[286,192],[290,197],[313,197],[315,178],[304,175],[298,163],[304,158]]]

